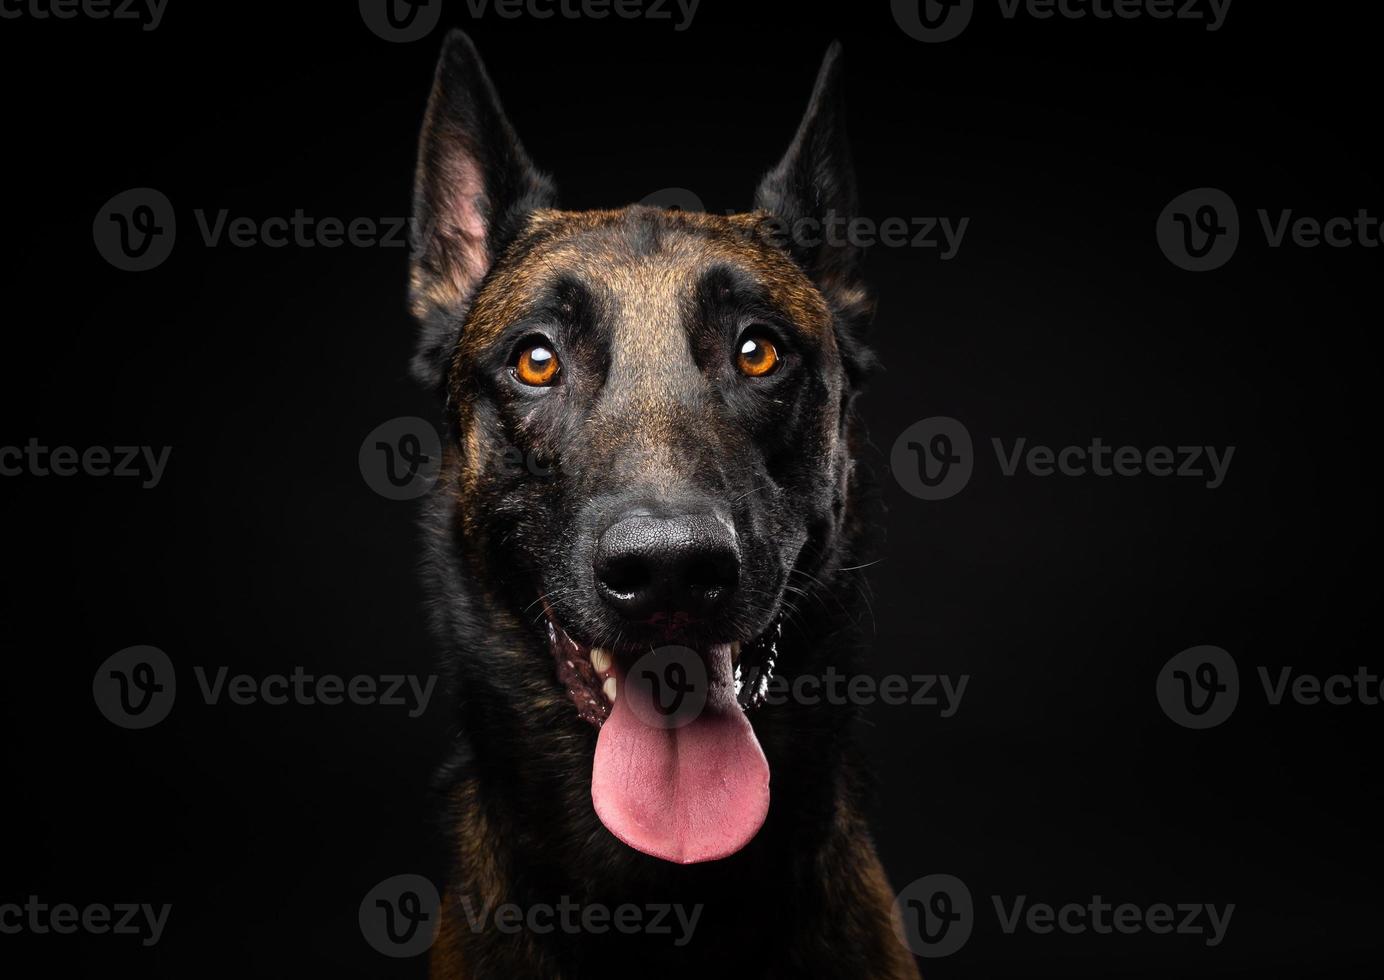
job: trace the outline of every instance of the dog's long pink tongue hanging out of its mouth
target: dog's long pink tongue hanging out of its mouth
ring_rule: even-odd
[[[591,771],[591,800],[610,833],[677,864],[735,854],[770,810],[770,764],[735,700],[731,648],[713,648],[706,664],[706,707],[681,728],[646,724],[657,717],[649,688],[620,677]]]

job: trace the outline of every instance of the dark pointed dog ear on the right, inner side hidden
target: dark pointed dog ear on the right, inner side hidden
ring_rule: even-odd
[[[872,306],[859,282],[861,249],[843,234],[857,216],[857,198],[841,62],[841,44],[835,42],[817,73],[807,115],[787,154],[760,181],[754,206],[774,216],[775,235],[826,296],[850,342]],[[832,234],[828,221],[837,223]]]

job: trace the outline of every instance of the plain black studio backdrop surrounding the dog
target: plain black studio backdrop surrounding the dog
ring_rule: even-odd
[[[163,940],[0,936],[32,974],[422,976],[371,950],[361,897],[440,880],[428,783],[448,705],[206,706],[191,664],[428,673],[414,505],[372,493],[365,433],[436,415],[406,376],[407,256],[208,248],[194,209],[407,213],[441,29],[388,43],[356,6],[172,0],[158,30],[0,21],[0,444],[173,446],[163,483],[0,480],[0,901],[170,902]],[[1330,7],[1330,8],[1329,8]],[[962,878],[976,932],[931,977],[1359,976],[1380,958],[1384,707],[1269,707],[1254,669],[1380,667],[1370,324],[1380,249],[1271,249],[1255,210],[1384,215],[1377,35],[1345,4],[1235,4],[1225,26],[1003,19],[923,44],[887,3],[703,0],[667,21],[473,18],[531,155],[570,208],[667,187],[743,209],[846,43],[864,210],[970,217],[958,256],[875,248],[865,403],[889,544],[873,673],[969,674],[960,710],[876,705],[877,843],[895,887]],[[1243,241],[1190,274],[1158,251],[1218,187]],[[107,264],[130,187],[179,215],[172,257]],[[887,476],[898,433],[960,419],[959,496]],[[990,439],[1235,446],[1226,483],[1003,478]],[[167,651],[188,695],[109,724],[91,674]],[[1226,648],[1243,696],[1174,725],[1154,678]],[[1236,905],[1225,941],[1001,932],[990,896]],[[6,970],[12,974],[11,970]]]

